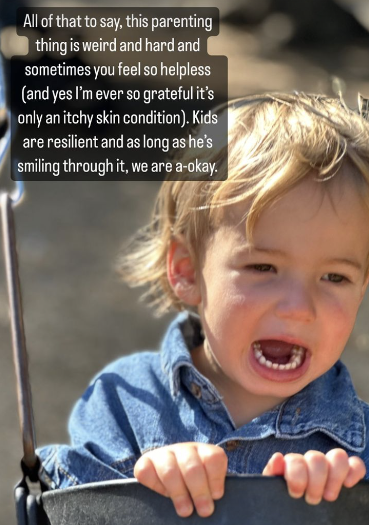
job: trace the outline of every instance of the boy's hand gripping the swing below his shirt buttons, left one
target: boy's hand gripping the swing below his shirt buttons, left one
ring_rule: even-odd
[[[134,476],[146,487],[172,499],[178,516],[214,511],[224,494],[227,456],[223,448],[203,443],[177,443],[147,452],[137,461]]]

